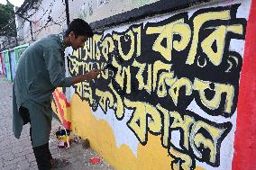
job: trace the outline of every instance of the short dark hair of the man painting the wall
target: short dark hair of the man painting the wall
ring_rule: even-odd
[[[69,28],[65,33],[65,36],[68,36],[69,33],[73,31],[76,38],[78,35],[87,36],[88,38],[93,37],[94,33],[90,25],[82,19],[74,19],[69,23]]]

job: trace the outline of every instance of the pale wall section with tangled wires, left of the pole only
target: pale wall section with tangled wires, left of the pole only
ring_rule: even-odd
[[[59,33],[62,29],[67,28],[66,12],[64,1],[46,1],[38,0],[29,8],[23,17],[32,21],[32,35],[30,22],[17,17],[18,36],[23,39],[23,43],[28,43],[33,40],[52,34]]]

